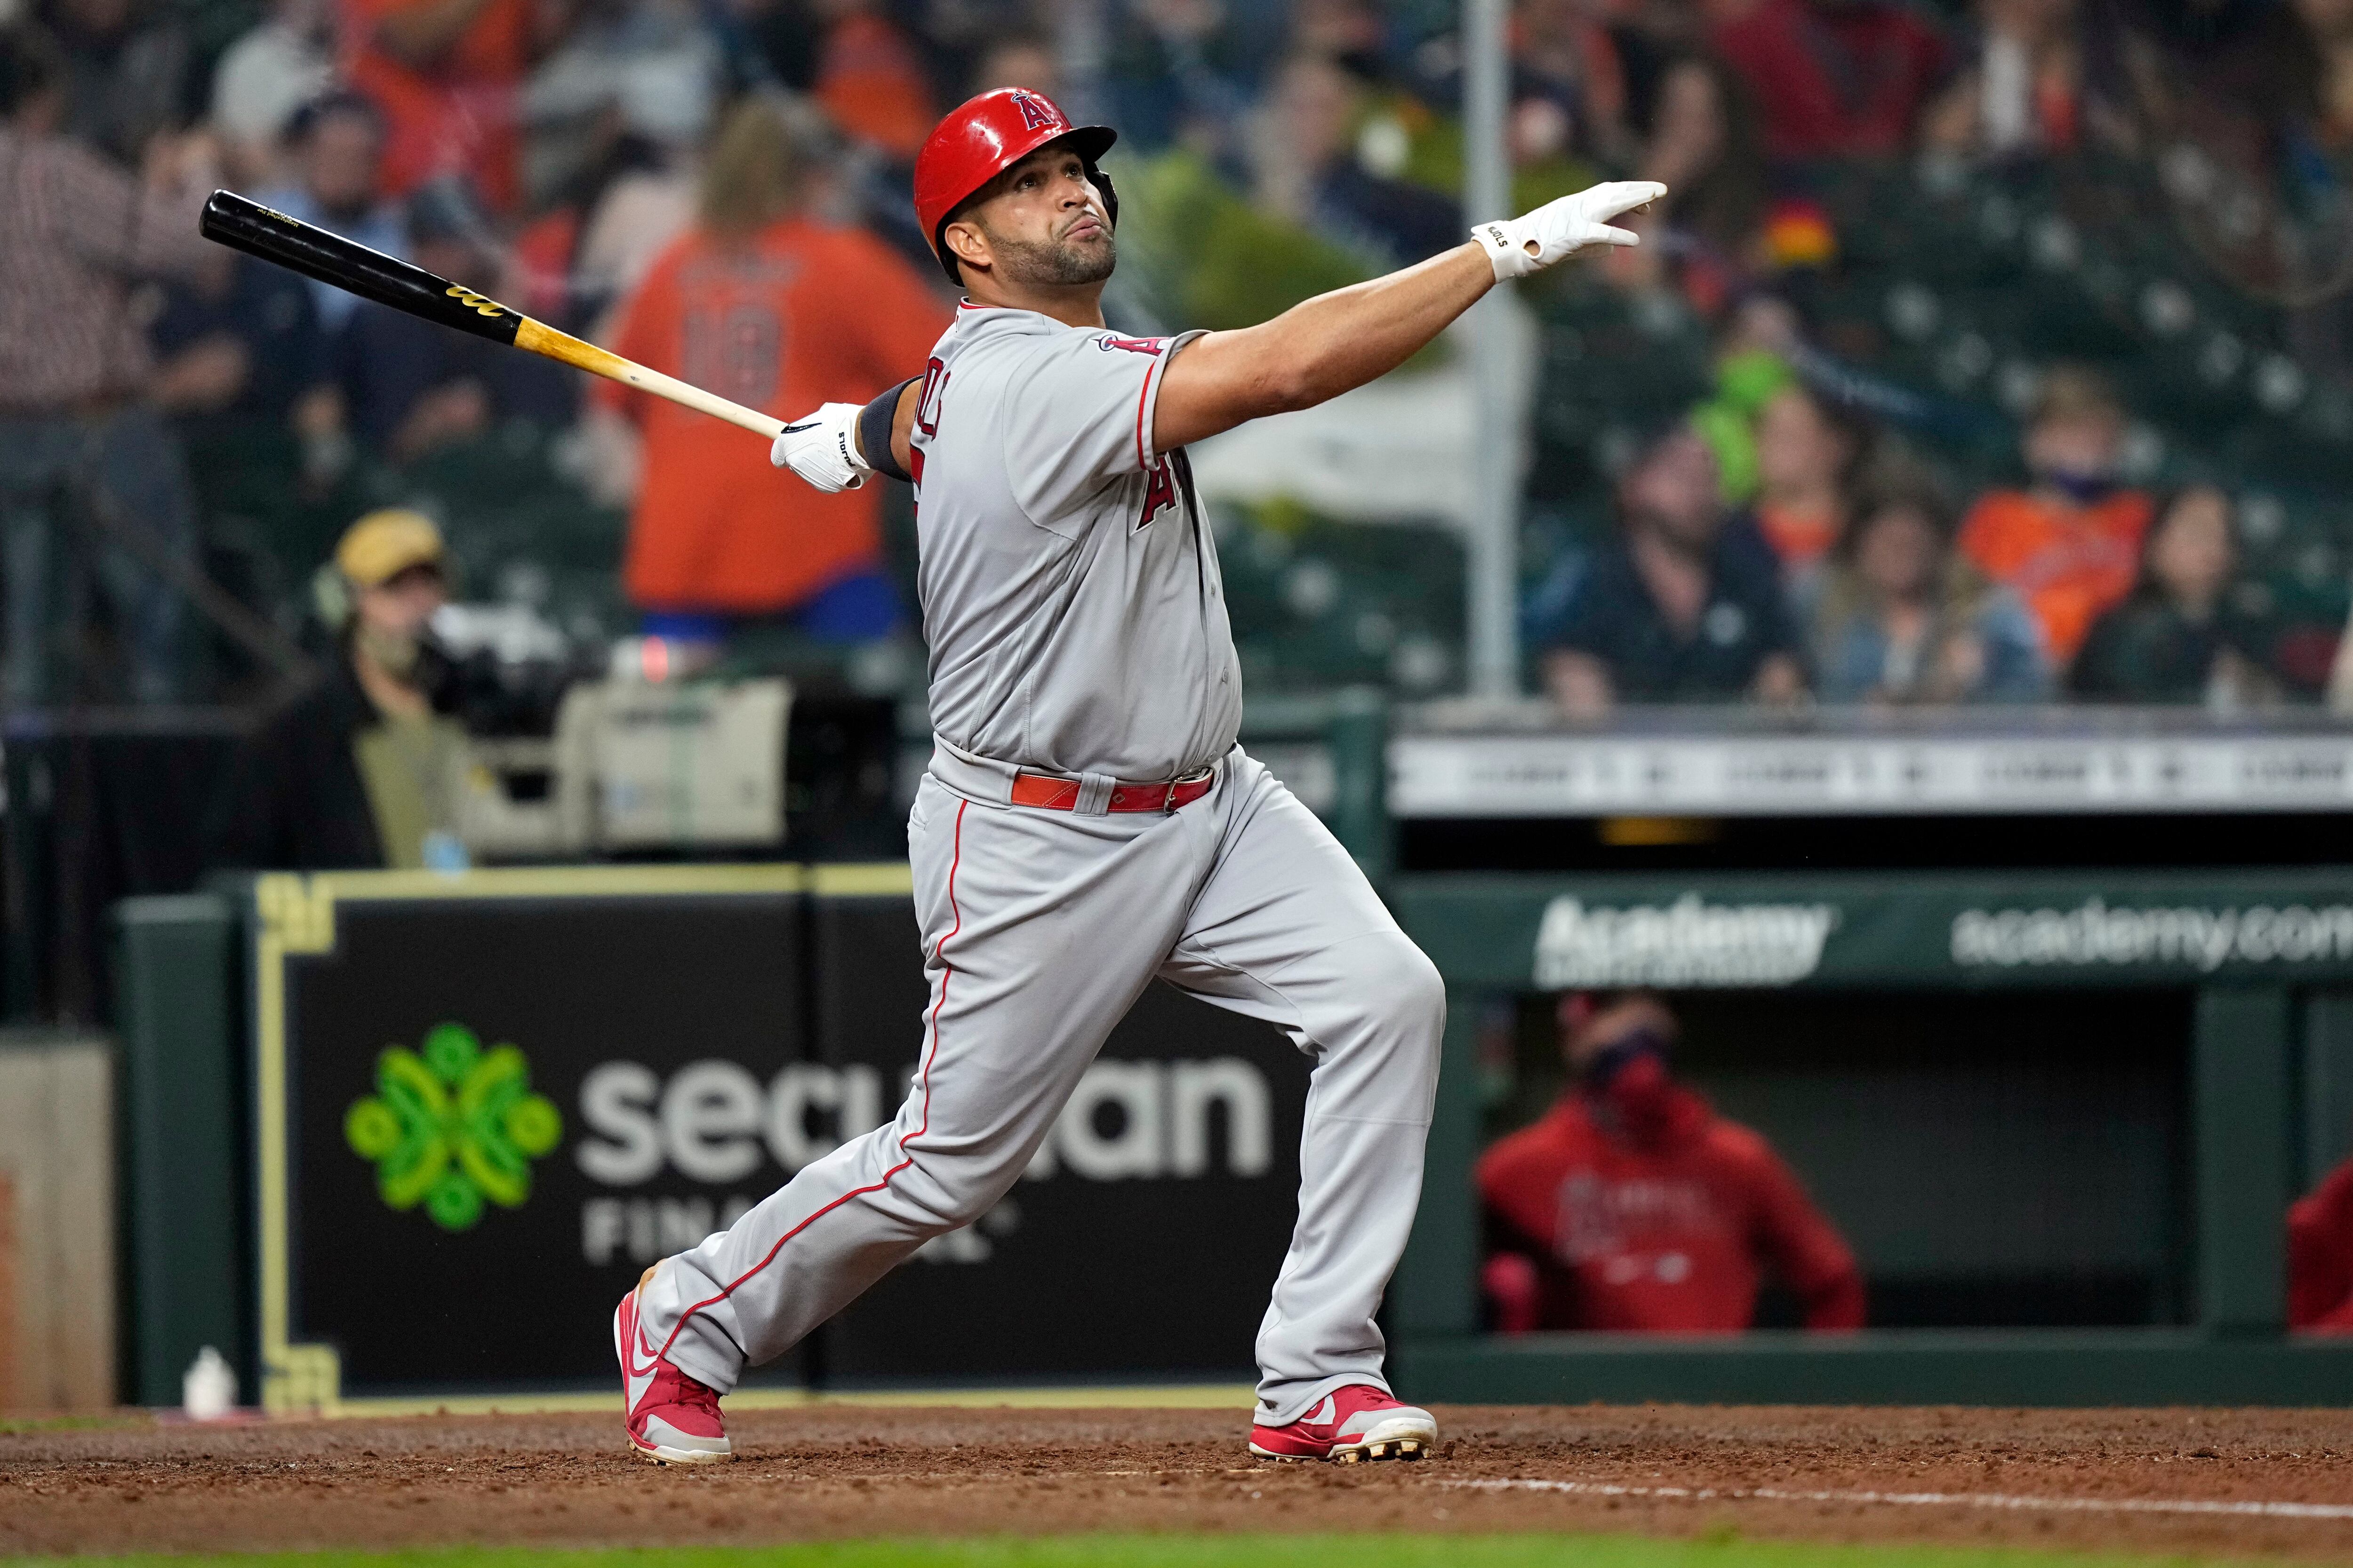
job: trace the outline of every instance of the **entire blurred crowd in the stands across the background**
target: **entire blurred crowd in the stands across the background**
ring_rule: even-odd
[[[584,642],[645,632],[696,663],[746,635],[913,632],[880,487],[805,494],[741,433],[202,244],[221,183],[776,414],[920,369],[953,294],[908,167],[986,87],[1118,125],[1106,303],[1129,329],[1264,320],[1464,228],[1459,19],[1438,0],[12,0],[0,19],[9,705],[275,689],[318,637],[320,562],[384,505],[440,520],[452,576],[494,578],[454,592]],[[1511,63],[1518,207],[1614,174],[1671,186],[1640,252],[1527,292],[1525,642],[1562,710],[2325,693],[2344,574],[2299,557],[2318,590],[2282,604],[2247,562],[2278,536],[2268,491],[2249,520],[2268,449],[2167,447],[2167,418],[2198,421],[2144,407],[2113,343],[2005,360],[1993,327],[1913,331],[1939,296],[1908,282],[1927,306],[1897,289],[1892,331],[1854,331],[1835,282],[1901,273],[1873,259],[1889,200],[2144,179],[2172,205],[2111,228],[2174,235],[2200,289],[2261,322],[2214,329],[2235,360],[2207,390],[2280,418],[2353,409],[2353,7],[1520,0]],[[1857,169],[1894,172],[1861,216],[1838,197]],[[2082,244],[2045,270],[2097,282]],[[2207,331],[2198,289],[2174,308],[2139,282],[2132,331]],[[1941,386],[1906,376],[1906,339],[1937,348]],[[1671,343],[1697,386],[1659,381]],[[1577,425],[1579,400],[1609,416]],[[1287,559],[1285,517],[1221,527],[1287,531],[1259,552]],[[224,625],[224,597],[249,618]],[[1332,599],[1289,583],[1268,614]],[[1355,639],[1386,654],[1400,614],[1358,611]],[[1374,672],[1426,691],[1459,661]]]

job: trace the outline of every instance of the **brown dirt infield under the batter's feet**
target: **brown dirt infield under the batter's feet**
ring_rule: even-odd
[[[619,1401],[616,1401],[619,1403]],[[1221,1410],[814,1406],[659,1469],[616,1415],[0,1436],[0,1554],[1068,1530],[1614,1530],[2353,1563],[2353,1413],[1440,1408],[1419,1465],[1254,1465]]]

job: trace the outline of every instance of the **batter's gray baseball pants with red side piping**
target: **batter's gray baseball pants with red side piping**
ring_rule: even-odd
[[[1386,1389],[1372,1316],[1421,1197],[1435,966],[1240,748],[1209,795],[1165,816],[1009,806],[1009,783],[1012,769],[941,748],[915,792],[929,999],[899,1117],[671,1258],[645,1288],[647,1338],[725,1394],[984,1215],[1160,976],[1278,1025],[1315,1063],[1299,1225],[1259,1326],[1259,1420],[1292,1422],[1351,1382]]]

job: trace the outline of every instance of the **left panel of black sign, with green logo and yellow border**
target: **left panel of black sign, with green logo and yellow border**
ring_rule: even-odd
[[[786,1180],[805,875],[256,884],[264,1399],[600,1387],[612,1307]]]

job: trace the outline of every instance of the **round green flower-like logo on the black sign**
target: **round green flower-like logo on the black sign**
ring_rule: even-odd
[[[426,1206],[442,1229],[471,1229],[482,1199],[515,1208],[532,1197],[532,1159],[562,1140],[565,1119],[532,1093],[532,1065],[461,1023],[435,1025],[424,1053],[386,1046],[376,1093],[344,1112],[344,1143],[376,1161],[391,1208]]]

